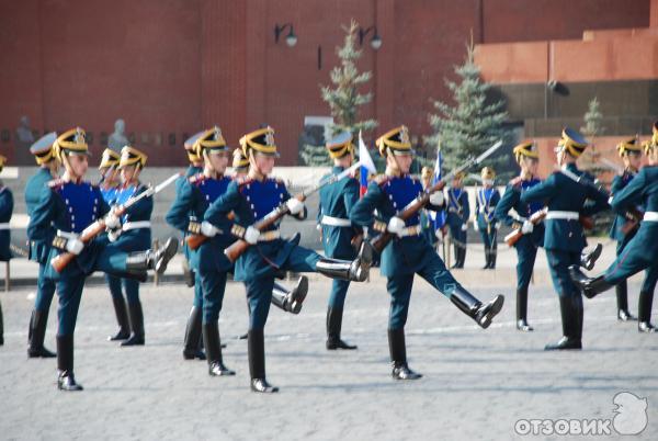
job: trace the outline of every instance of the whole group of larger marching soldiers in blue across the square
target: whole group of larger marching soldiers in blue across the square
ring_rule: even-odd
[[[644,147],[650,165],[656,163],[658,149],[658,135],[656,135],[658,126],[654,129],[653,142]],[[298,219],[306,217],[304,197],[291,196],[283,181],[270,178],[277,157],[274,131],[271,127],[251,132],[240,139],[240,147],[234,152],[234,166],[237,165],[237,169],[241,168],[245,172],[230,178],[226,176],[230,151],[217,127],[201,132],[186,143],[191,167],[198,167],[198,169],[190,170],[188,177],[179,182],[177,199],[167,215],[167,220],[185,235],[204,238],[201,246],[185,251],[194,274],[191,284],[194,285],[195,294],[185,330],[184,358],[207,359],[208,374],[213,376],[235,374],[224,364],[217,325],[229,272],[234,273],[235,280],[243,282],[247,289],[250,317],[247,338],[252,391],[275,392],[277,389],[265,380],[263,331],[270,304],[293,314],[299,313],[307,294],[306,279],[300,279],[297,286],[290,291],[275,284],[275,279],[283,275],[285,271],[319,272],[334,279],[327,314],[327,348],[354,349],[354,346],[341,339],[340,331],[349,284],[353,281],[364,281],[373,262],[370,241],[354,240],[363,229],[387,233],[395,237],[383,249],[381,256],[381,271],[387,278],[387,291],[392,297],[388,342],[394,378],[415,380],[421,376],[407,363],[404,331],[416,273],[450,298],[460,310],[479,326],[487,328],[490,325],[492,318],[502,308],[503,296],[496,295],[487,303],[473,296],[454,279],[427,240],[420,213],[408,218],[400,217],[402,207],[424,196],[427,196],[424,204],[427,210],[436,212],[447,210],[449,217],[451,213],[450,202],[442,191],[427,194],[421,182],[409,176],[413,150],[407,128],[401,126],[389,131],[377,139],[376,145],[386,160],[386,171],[373,179],[365,195],[359,199],[359,183],[354,177],[330,180],[330,178],[340,178],[345,171],[353,169],[352,136],[342,134],[327,144],[334,167],[329,176],[322,178],[327,184],[321,185],[320,190],[318,220],[321,225],[325,248],[325,256],[321,256],[300,247],[298,236],[292,239],[282,238],[279,222],[265,223],[268,225],[263,227],[264,220],[275,212]],[[653,255],[648,255],[649,260],[642,261],[635,255],[638,249],[635,244],[655,247],[656,242],[655,236],[651,236],[655,234],[651,229],[655,225],[653,214],[655,212],[651,210],[655,210],[653,197],[656,190],[651,185],[656,180],[653,174],[649,174],[650,170],[655,169],[645,167],[639,176],[645,173],[647,178],[637,181],[634,179],[632,182],[639,183],[627,185],[627,189],[613,194],[612,206],[614,210],[620,210],[624,216],[627,215],[625,211],[628,201],[634,204],[644,202],[647,207],[643,222],[638,223],[639,231],[644,234],[636,235],[640,239],[636,242],[631,240],[624,247],[624,250],[628,251],[620,256],[621,263],[617,268],[622,265],[623,270],[609,270],[612,274],[606,273],[605,276],[590,280],[577,268],[583,263],[589,267],[595,260],[595,256],[582,256],[586,240],[580,224],[581,215],[592,215],[609,207],[609,195],[595,186],[591,177],[576,167],[576,160],[586,148],[587,142],[580,134],[565,129],[556,147],[560,169],[545,181],[540,181],[536,178],[538,160],[536,147],[532,143],[523,143],[514,147],[513,154],[521,167],[521,174],[510,182],[500,202],[496,204],[494,213],[497,219],[521,233],[521,238],[515,244],[519,255],[517,315],[520,330],[532,330],[526,321],[530,274],[537,247],[543,245],[547,252],[563,317],[563,338],[556,343],[546,346],[547,350],[581,348],[583,312],[581,292],[589,295],[616,284],[634,271],[638,271],[640,264],[646,265],[643,268],[654,264],[649,260],[650,256],[656,256],[654,250]],[[141,190],[137,177],[138,170],[146,163],[144,154],[131,146],[122,150],[117,168],[120,170],[132,168],[132,170],[122,171],[123,182],[116,191],[125,190],[129,195],[118,199],[107,196],[115,185],[111,184],[112,178],[106,173],[115,167],[116,162],[113,163],[112,160],[117,160],[111,158],[111,152],[106,152],[103,157],[102,166],[105,166],[105,170],[101,188],[81,181],[86,167],[84,169],[77,167],[87,163],[83,131],[73,129],[65,133],[52,143],[49,149],[44,148],[44,151],[46,150],[52,151],[53,156],[65,165],[66,172],[63,179],[42,184],[44,186],[42,196],[38,199],[37,206],[31,211],[29,236],[31,250],[37,242],[53,245],[47,257],[42,259],[39,287],[43,284],[42,279],[58,281],[56,282],[60,297],[57,336],[58,384],[61,389],[79,389],[81,387],[72,376],[72,329],[84,276],[99,270],[104,271],[109,276],[123,278],[124,284],[125,281],[144,280],[148,269],[163,271],[168,260],[175,252],[177,242],[170,239],[161,249],[148,250],[150,244],[150,231],[148,231],[149,240],[136,245],[137,239],[132,237],[131,231],[149,227],[144,223],[147,223],[147,218],[150,217],[152,202],[150,208],[128,210],[122,212],[121,216],[117,215],[116,210],[110,208],[110,205],[115,207],[128,205],[131,199]],[[633,147],[620,149],[624,157],[631,150],[634,150]],[[640,193],[637,193],[638,188]],[[632,197],[627,196],[629,192],[635,192]],[[483,205],[490,205],[491,194],[483,201]],[[116,197],[114,202],[112,197]],[[111,202],[107,203],[106,200]],[[131,205],[131,208],[138,205]],[[84,212],[81,210],[82,206],[89,213],[87,217],[80,218],[80,214]],[[545,214],[543,223],[535,216],[540,212]],[[90,241],[80,240],[79,233],[101,217],[106,234]],[[54,223],[55,228],[49,228],[48,223]],[[135,225],[136,223],[143,224]],[[47,239],[48,235],[55,236],[53,240]],[[226,251],[236,240],[246,244],[248,248],[234,261],[228,258]],[[353,242],[360,244],[358,249],[353,247]],[[60,274],[54,274],[52,265],[47,263],[63,251],[76,255],[76,264],[67,267]],[[627,255],[634,259],[628,259]],[[628,261],[633,262],[633,265]],[[67,272],[69,268],[75,270],[71,270],[73,271],[71,278]],[[651,284],[651,279],[648,279],[647,283]],[[643,287],[639,325],[642,331],[654,330],[649,320],[651,305],[650,302],[647,305],[646,293],[650,291],[653,295],[655,282],[653,279],[653,286],[647,286],[650,290]],[[43,295],[37,295],[37,304],[39,296]],[[116,297],[118,296],[113,294],[113,299]],[[121,303],[115,303],[120,332],[113,338],[123,339],[128,346],[144,344],[140,306],[131,307],[131,304],[135,303],[131,302],[131,298],[135,298],[135,294],[128,294],[129,319],[127,320],[126,314],[121,310],[123,298]],[[627,313],[626,309],[625,312]],[[43,319],[39,318],[33,315],[31,329],[34,323],[37,325],[42,323]],[[132,332],[128,332],[128,326]],[[44,331],[45,325],[43,328],[38,326],[37,337],[41,338],[41,346],[35,344],[34,348],[41,351],[45,351]],[[34,335],[33,330],[32,336]],[[205,347],[205,353],[201,349],[201,341]],[[31,348],[34,349],[32,343]],[[46,354],[46,352],[41,353]]]

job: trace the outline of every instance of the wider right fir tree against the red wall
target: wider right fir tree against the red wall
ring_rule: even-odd
[[[433,102],[438,113],[429,116],[433,133],[426,138],[433,146],[441,142],[444,165],[449,170],[470,156],[478,156],[506,135],[502,127],[507,118],[504,102],[488,102],[487,92],[491,84],[480,79],[480,68],[473,59],[473,38],[466,50],[464,64],[454,68],[461,81],[445,80],[455,105]]]

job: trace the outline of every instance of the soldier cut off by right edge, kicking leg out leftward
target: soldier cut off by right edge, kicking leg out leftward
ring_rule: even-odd
[[[608,270],[594,278],[588,278],[578,268],[570,268],[574,282],[588,298],[594,297],[617,285],[633,274],[645,270],[645,279],[639,291],[638,326],[639,332],[657,332],[651,325],[654,291],[658,281],[658,123],[654,125],[654,137],[645,144],[649,165],[612,197],[612,208],[623,214],[628,207],[642,204],[645,207],[639,229],[626,244],[616,260]]]

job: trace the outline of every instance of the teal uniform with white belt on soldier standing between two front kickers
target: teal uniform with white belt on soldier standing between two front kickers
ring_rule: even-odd
[[[333,167],[331,173],[322,177],[322,180],[343,171],[342,167]],[[356,250],[352,246],[356,230],[348,218],[356,202],[359,202],[359,181],[354,178],[342,179],[320,189],[318,223],[322,228],[325,256],[345,260],[356,257]],[[330,308],[343,308],[349,286],[350,281],[333,280],[329,296]]]

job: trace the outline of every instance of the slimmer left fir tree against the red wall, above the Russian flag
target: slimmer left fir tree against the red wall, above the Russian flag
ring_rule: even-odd
[[[359,120],[359,109],[373,99],[372,92],[359,93],[359,89],[370,81],[372,72],[359,72],[356,68],[356,61],[362,55],[362,50],[356,49],[359,24],[352,20],[349,27],[342,27],[345,31],[344,44],[336,48],[340,66],[331,69],[332,86],[320,86],[320,91],[333,117],[330,132],[350,132],[356,139],[359,131],[365,133],[377,126],[374,120]],[[325,166],[331,162],[324,146],[307,144],[303,147],[300,156],[307,166]]]

